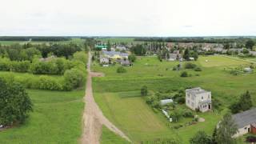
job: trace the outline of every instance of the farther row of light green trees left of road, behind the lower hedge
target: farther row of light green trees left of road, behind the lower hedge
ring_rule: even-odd
[[[14,72],[30,72],[33,74],[64,74],[66,70],[86,62],[84,52],[76,52],[72,61],[66,58],[34,58],[30,61],[10,61],[8,58],[0,58],[0,70]]]

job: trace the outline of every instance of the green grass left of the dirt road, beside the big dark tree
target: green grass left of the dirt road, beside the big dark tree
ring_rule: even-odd
[[[82,134],[84,90],[27,90],[34,111],[26,123],[0,132],[0,143],[78,143]]]

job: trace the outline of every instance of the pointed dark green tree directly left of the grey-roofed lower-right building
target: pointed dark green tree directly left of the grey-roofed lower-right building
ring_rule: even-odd
[[[218,144],[234,144],[236,140],[232,138],[238,131],[231,114],[225,114],[222,121],[218,123],[216,140]]]

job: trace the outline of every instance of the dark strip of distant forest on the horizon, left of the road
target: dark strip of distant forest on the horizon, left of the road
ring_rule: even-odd
[[[62,42],[69,41],[68,37],[0,37],[0,41],[34,41],[34,42]]]

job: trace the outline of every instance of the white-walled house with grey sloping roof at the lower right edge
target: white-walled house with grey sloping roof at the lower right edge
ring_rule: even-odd
[[[234,138],[247,133],[256,134],[256,108],[234,114],[232,118],[238,126],[238,132],[234,134]]]

